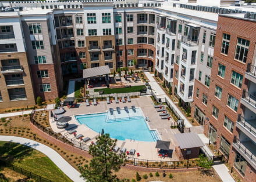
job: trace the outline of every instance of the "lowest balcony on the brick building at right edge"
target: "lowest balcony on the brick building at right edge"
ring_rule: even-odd
[[[248,163],[250,163],[250,165],[253,166],[254,169],[256,169],[256,147],[253,142],[235,139],[233,147],[244,157],[244,159],[246,159]]]

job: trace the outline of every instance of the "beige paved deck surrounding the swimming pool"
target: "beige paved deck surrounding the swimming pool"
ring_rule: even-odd
[[[94,132],[94,130],[91,130],[88,128],[86,125],[80,125],[74,118],[75,115],[82,115],[82,114],[93,114],[93,113],[98,113],[98,112],[106,112],[109,110],[109,108],[114,108],[116,110],[116,107],[120,107],[121,109],[125,106],[131,108],[131,105],[134,105],[135,107],[140,107],[141,110],[144,113],[145,117],[148,117],[150,119],[150,122],[147,122],[148,125],[150,126],[150,129],[158,130],[158,133],[160,134],[160,138],[162,140],[167,140],[170,141],[170,149],[171,153],[169,154],[169,157],[166,158],[161,158],[158,156],[158,151],[157,148],[155,148],[156,142],[147,142],[147,141],[134,141],[130,139],[126,139],[125,141],[123,140],[118,140],[117,145],[120,148],[125,147],[127,151],[130,151],[131,149],[136,150],[135,153],[140,153],[140,156],[137,155],[131,155],[131,157],[138,158],[138,159],[148,159],[148,160],[161,160],[161,161],[177,161],[179,158],[176,155],[176,152],[174,151],[175,146],[177,146],[176,141],[174,141],[173,134],[180,133],[179,130],[177,129],[171,129],[170,125],[172,122],[174,123],[173,119],[161,119],[159,117],[159,112],[157,112],[157,109],[153,107],[154,103],[152,102],[150,96],[141,96],[139,98],[134,98],[131,99],[131,102],[128,103],[113,103],[111,104],[106,104],[106,101],[99,101],[98,105],[90,105],[86,106],[86,103],[81,103],[79,107],[77,108],[66,108],[65,107],[65,116],[70,116],[72,117],[72,121],[69,121],[69,124],[76,124],[78,127],[76,128],[77,133],[76,134],[83,134],[84,137],[90,137],[91,140],[88,141],[86,144],[91,144],[91,141],[96,141],[96,137],[99,135],[99,133]],[[51,128],[55,132],[59,133],[65,133],[66,130],[63,129],[58,129],[56,128],[55,122],[52,122],[52,119],[50,119],[50,125]],[[70,139],[73,138],[73,135],[67,136]],[[79,140],[77,140],[79,141]]]

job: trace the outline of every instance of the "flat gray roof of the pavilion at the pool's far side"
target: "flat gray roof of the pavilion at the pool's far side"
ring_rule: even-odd
[[[83,70],[83,78],[90,78],[90,77],[96,77],[99,75],[106,75],[110,74],[111,71],[109,70],[108,65],[103,65],[100,67],[95,67],[95,68],[87,68]]]

